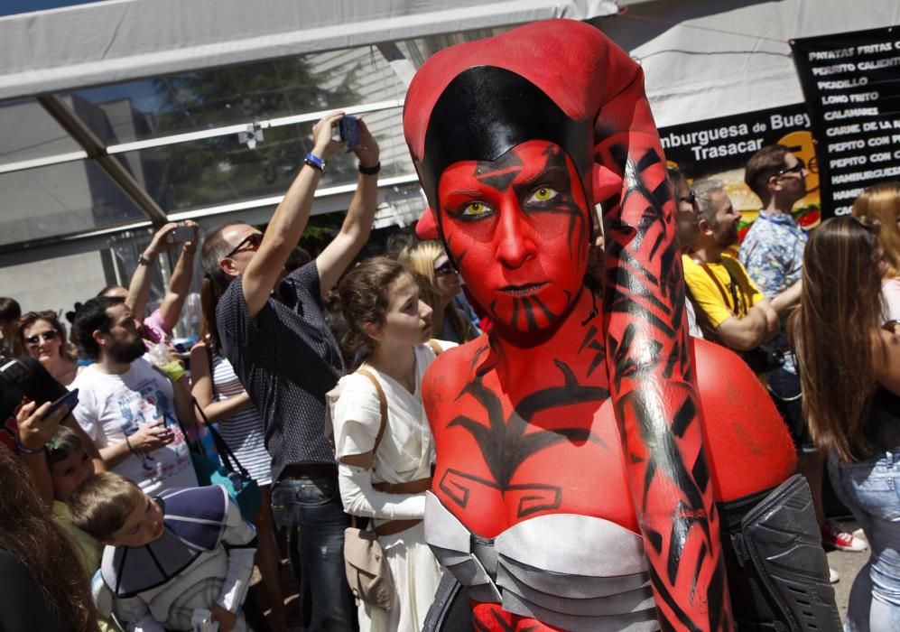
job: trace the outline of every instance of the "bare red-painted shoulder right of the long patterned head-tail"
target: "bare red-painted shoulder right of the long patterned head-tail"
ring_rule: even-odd
[[[694,367],[717,500],[746,497],[791,476],[791,435],[747,364],[729,349],[694,339]]]

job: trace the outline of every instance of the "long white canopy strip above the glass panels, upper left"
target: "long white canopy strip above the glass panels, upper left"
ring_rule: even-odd
[[[0,19],[0,99],[617,11],[613,0],[111,0]]]

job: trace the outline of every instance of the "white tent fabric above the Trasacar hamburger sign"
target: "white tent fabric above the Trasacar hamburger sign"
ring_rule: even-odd
[[[803,102],[789,41],[900,24],[896,0],[663,0],[596,23],[644,67],[656,124]]]

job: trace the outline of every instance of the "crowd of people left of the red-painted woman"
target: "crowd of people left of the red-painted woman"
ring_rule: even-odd
[[[325,161],[343,146],[332,139],[331,128],[340,117],[337,113],[316,125],[311,155]],[[172,346],[172,330],[190,292],[200,246],[192,222],[194,237],[181,243],[168,238],[175,225],[159,229],[129,287],[103,288],[77,305],[70,328],[55,311],[22,314],[14,299],[0,299],[5,357],[32,358],[36,362],[23,365],[34,374],[32,382],[54,380],[77,394],[48,416],[51,403],[31,401],[31,386],[13,389],[5,381],[5,390],[20,395],[7,411],[14,423],[7,423],[12,450],[5,453],[18,452],[31,470],[28,476],[16,474],[22,494],[32,480],[52,510],[53,520],[41,523],[40,533],[65,529],[83,562],[77,569],[80,579],[94,578],[111,592],[106,600],[95,594],[97,606],[88,599],[73,601],[79,593],[63,590],[43,595],[43,607],[38,607],[40,590],[16,599],[15,607],[10,601],[7,608],[5,601],[4,629],[55,629],[63,618],[76,621],[79,629],[188,629],[198,609],[209,609],[210,620],[223,631],[244,629],[241,613],[253,562],[271,604],[268,620],[258,619],[256,628],[286,629],[278,527],[290,539],[305,628],[350,629],[359,625],[358,618],[366,628],[421,629],[441,569],[422,533],[423,492],[431,485],[434,449],[419,383],[436,353],[480,331],[460,291],[459,274],[439,242],[407,236],[391,258],[368,259],[344,275],[366,244],[375,212],[378,148],[365,123],[360,126],[362,141],[354,148],[360,160],[357,195],[339,235],[311,263],[307,257],[305,264],[293,265],[290,273],[287,269],[320,174],[312,161],[265,234],[231,223],[203,239],[202,321],[189,358],[182,360],[184,354]],[[168,290],[159,307],[145,315],[152,266],[173,247],[181,253]],[[336,313],[327,314],[328,306]],[[333,331],[325,325],[326,316]],[[441,342],[424,344],[434,339]],[[358,373],[348,374],[344,358]],[[304,367],[302,374],[298,366]],[[368,377],[360,383],[362,375]],[[332,448],[324,432],[326,395],[341,376],[342,393],[333,402]],[[390,432],[382,430],[385,441],[379,439],[376,446],[379,398],[386,403]],[[242,521],[233,502],[218,507],[221,498],[215,495],[189,495],[188,504],[178,503],[181,510],[215,506],[207,517],[226,525],[219,537],[222,546],[204,544],[216,555],[227,550],[225,563],[219,560],[217,568],[213,555],[204,561],[211,574],[185,577],[179,569],[166,568],[160,577],[132,553],[129,568],[147,576],[129,578],[130,587],[123,591],[116,585],[123,581],[122,547],[168,554],[173,563],[187,554],[173,550],[163,536],[181,535],[172,490],[198,488],[193,446],[202,441],[205,423],[218,426],[259,486],[260,509]],[[7,465],[19,472],[23,464]],[[28,507],[37,511],[38,504]],[[372,609],[361,601],[357,616],[341,546],[348,515],[371,519],[391,563],[398,589],[394,599],[402,600],[402,607]],[[252,527],[248,530],[244,522]],[[193,543],[196,534],[183,537]],[[101,554],[103,545],[108,545],[108,560]],[[255,552],[249,564],[246,555],[233,554],[247,547]],[[8,563],[17,564],[16,577],[35,574],[28,583],[33,587],[51,572],[42,562],[13,557]],[[70,583],[77,583],[76,574]],[[197,577],[206,585],[199,588]],[[162,579],[167,582],[160,591]],[[72,608],[79,608],[78,618],[68,616]]]

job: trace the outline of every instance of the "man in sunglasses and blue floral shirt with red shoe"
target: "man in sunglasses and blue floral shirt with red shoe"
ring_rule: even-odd
[[[768,389],[791,432],[797,449],[797,469],[810,483],[822,540],[842,551],[860,552],[867,548],[862,540],[841,532],[836,525],[825,520],[821,505],[824,464],[812,445],[803,418],[800,378],[784,335],[787,317],[800,303],[803,248],[808,238],[791,211],[793,205],[806,195],[808,175],[803,161],[783,144],[763,147],[750,158],[744,181],[762,201],[763,208],[747,231],[747,237],[740,246],[739,258],[781,321],[775,347],[784,352],[784,367],[768,374]],[[837,581],[837,572],[831,572],[831,581]]]

